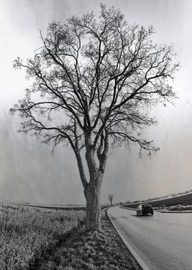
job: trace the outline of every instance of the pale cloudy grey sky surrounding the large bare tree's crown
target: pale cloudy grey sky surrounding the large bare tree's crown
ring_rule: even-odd
[[[180,70],[176,73],[175,105],[156,107],[151,114],[158,126],[143,131],[160,151],[139,158],[139,149],[112,149],[101,191],[114,200],[139,200],[192,189],[192,2],[190,0],[0,0],[0,199],[30,203],[85,203],[82,184],[71,149],[60,145],[55,154],[30,135],[17,133],[21,119],[9,108],[23,97],[30,81],[12,62],[33,56],[40,47],[39,30],[51,21],[64,23],[94,11],[99,3],[120,8],[129,23],[153,25],[154,42],[173,44]]]

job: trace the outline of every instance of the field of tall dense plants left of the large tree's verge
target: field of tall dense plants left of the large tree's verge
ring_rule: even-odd
[[[34,270],[84,220],[84,211],[0,205],[0,270]]]

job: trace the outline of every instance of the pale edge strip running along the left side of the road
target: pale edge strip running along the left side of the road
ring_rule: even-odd
[[[119,234],[119,236],[123,240],[125,246],[129,249],[130,253],[132,253],[132,256],[134,256],[136,262],[139,264],[141,269],[151,270],[151,269],[149,269],[149,267],[147,267],[147,264],[145,264],[145,262],[143,262],[143,260],[139,257],[139,255],[136,253],[136,251],[134,251],[134,249],[130,246],[130,244],[128,243],[128,240],[126,240],[125,237],[123,236],[123,234],[119,231],[119,229],[117,228],[115,223],[112,221],[112,218],[111,218],[110,214],[108,213],[108,210],[107,210],[107,215],[108,215],[108,218],[110,219],[110,222],[112,223],[113,227],[115,227],[117,233]]]

